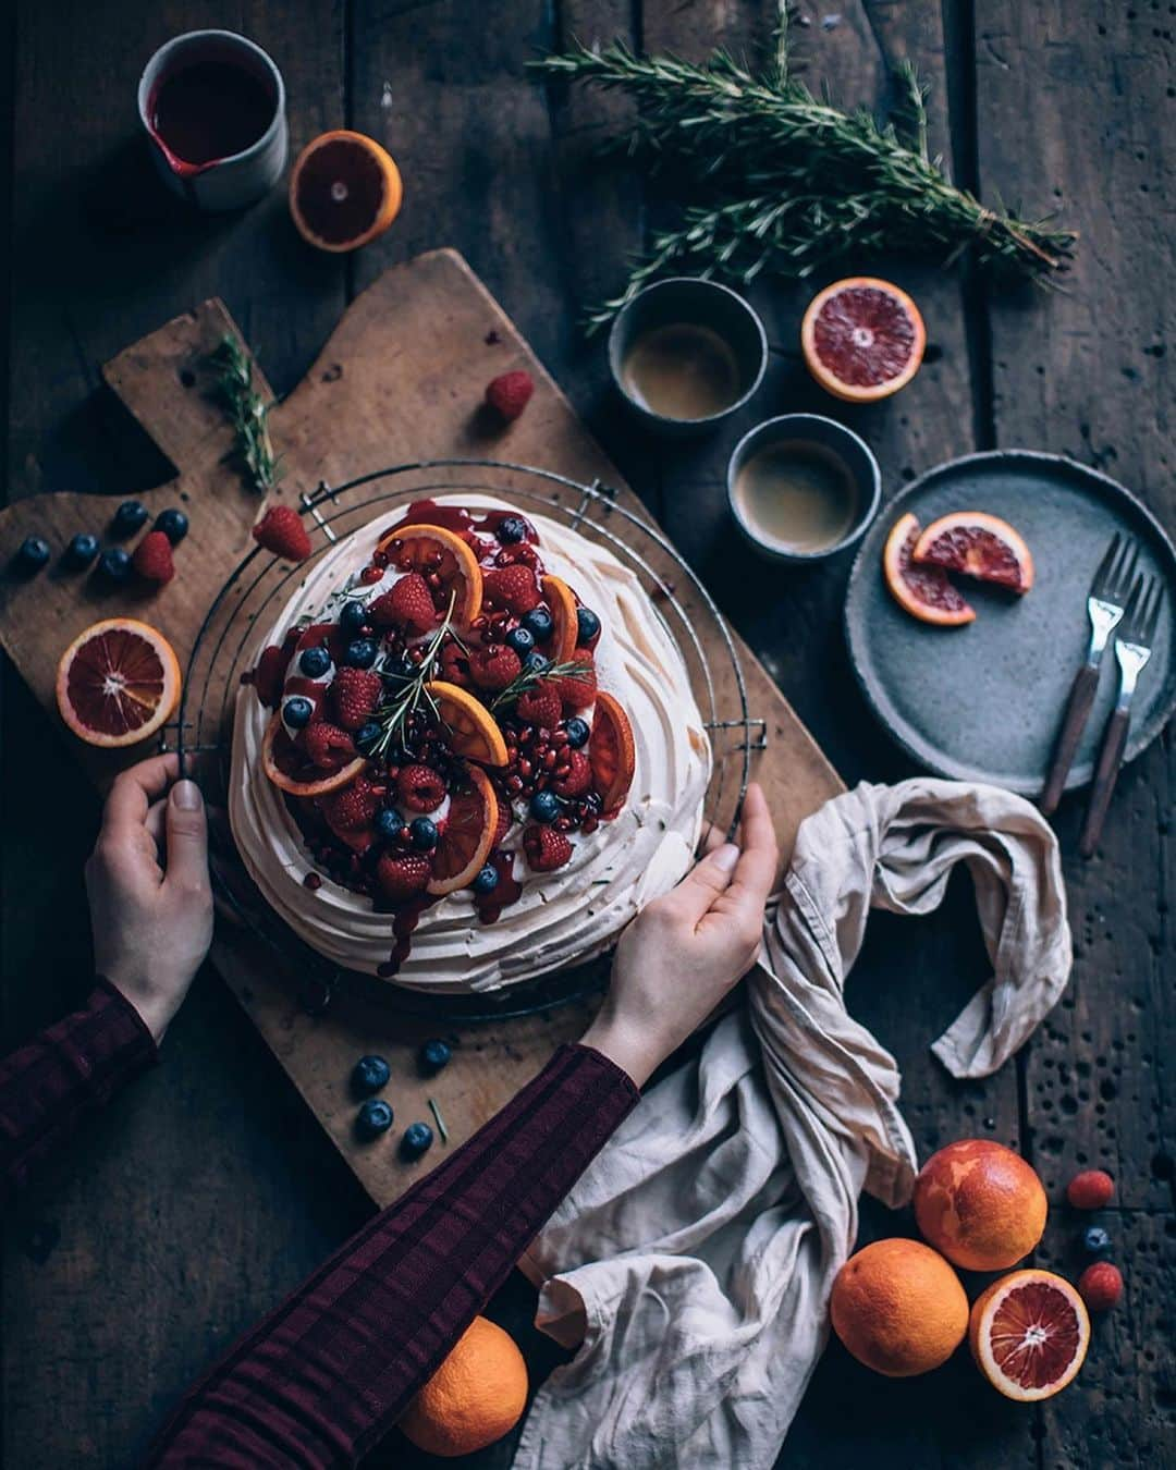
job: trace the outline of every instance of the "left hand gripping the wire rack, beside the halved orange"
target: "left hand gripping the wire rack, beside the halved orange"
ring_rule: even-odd
[[[122,991],[156,1042],[212,944],[204,800],[178,775],[176,756],[125,770],[85,864],[94,969]]]

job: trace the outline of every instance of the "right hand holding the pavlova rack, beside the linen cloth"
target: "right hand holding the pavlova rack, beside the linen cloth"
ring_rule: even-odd
[[[767,801],[744,798],[742,851],[725,842],[634,919],[617,945],[600,1014],[581,1038],[638,1086],[756,961],[779,850]]]

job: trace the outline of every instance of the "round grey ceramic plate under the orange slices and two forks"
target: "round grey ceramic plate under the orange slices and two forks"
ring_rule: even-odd
[[[1033,553],[1032,589],[1019,598],[969,582],[973,623],[917,622],[882,578],[886,535],[908,510],[923,526],[950,510],[1003,516]],[[928,470],[883,507],[850,575],[845,631],[866,698],[908,756],[941,776],[986,781],[1029,797],[1041,791],[1070,682],[1086,651],[1086,592],[1116,531],[1139,541],[1141,569],[1167,584],[1151,662],[1135,695],[1126,751],[1132,760],[1176,707],[1176,551],[1139,500],[1072,460],[1001,450]],[[1101,672],[1067,788],[1094,775],[1116,695],[1113,648]]]

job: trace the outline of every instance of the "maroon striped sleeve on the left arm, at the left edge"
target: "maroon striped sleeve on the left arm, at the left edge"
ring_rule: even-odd
[[[0,1197],[157,1057],[135,1007],[98,979],[81,1010],[0,1061]]]

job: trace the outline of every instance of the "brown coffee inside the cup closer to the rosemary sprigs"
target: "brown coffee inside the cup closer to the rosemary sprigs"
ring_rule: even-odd
[[[641,332],[625,354],[620,379],[632,398],[663,419],[709,419],[742,395],[731,344],[692,322]]]

